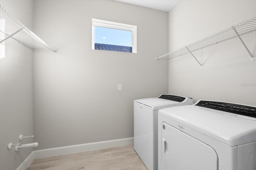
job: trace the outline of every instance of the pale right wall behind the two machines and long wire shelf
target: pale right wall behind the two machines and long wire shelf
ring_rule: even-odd
[[[255,0],[184,0],[169,12],[169,51],[256,16]],[[241,36],[256,57],[256,31]],[[256,106],[256,62],[238,37],[169,60],[169,93]]]

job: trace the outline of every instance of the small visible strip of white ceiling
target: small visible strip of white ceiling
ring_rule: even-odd
[[[153,9],[161,10],[165,12],[169,12],[179,2],[179,0],[115,0],[115,1],[138,5],[138,6],[144,6],[147,8],[153,8]]]

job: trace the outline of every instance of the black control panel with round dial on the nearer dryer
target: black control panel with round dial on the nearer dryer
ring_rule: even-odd
[[[252,106],[245,106],[245,105],[226,103],[226,102],[206,101],[206,100],[200,100],[196,104],[196,106],[207,107],[210,109],[226,111],[226,112],[235,113],[239,115],[256,117],[256,107],[252,107]]]

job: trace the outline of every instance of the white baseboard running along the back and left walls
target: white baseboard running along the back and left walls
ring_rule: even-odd
[[[86,152],[91,150],[121,147],[125,145],[133,145],[133,137],[110,140],[110,141],[85,143],[80,145],[70,145],[66,147],[34,150],[22,162],[22,164],[20,164],[20,166],[16,170],[26,170],[26,168],[28,168],[28,166],[33,162],[34,159],[48,158],[52,156],[60,156],[64,154],[73,154],[73,153]]]

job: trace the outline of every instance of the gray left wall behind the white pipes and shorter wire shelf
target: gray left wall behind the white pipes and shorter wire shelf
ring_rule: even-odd
[[[32,0],[1,0],[0,4],[32,29]],[[16,169],[32,152],[7,149],[9,143],[20,143],[21,134],[33,135],[32,55],[28,47],[6,40],[6,57],[0,60],[0,170]]]

